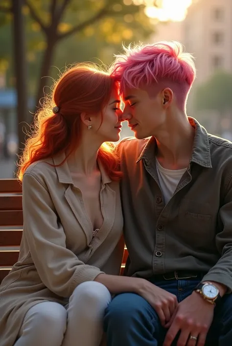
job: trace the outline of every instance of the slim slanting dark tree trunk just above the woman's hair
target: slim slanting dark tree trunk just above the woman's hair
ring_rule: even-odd
[[[52,34],[47,37],[47,47],[42,60],[40,80],[36,97],[36,110],[38,110],[38,108],[40,108],[40,104],[43,105],[44,102],[44,87],[47,85],[49,78],[48,75],[52,64],[56,43],[56,34]]]

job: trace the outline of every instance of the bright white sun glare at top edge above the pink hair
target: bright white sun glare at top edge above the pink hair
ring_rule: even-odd
[[[147,6],[145,13],[150,18],[157,18],[161,22],[183,21],[186,17],[187,8],[192,4],[192,0],[162,0],[160,8]]]

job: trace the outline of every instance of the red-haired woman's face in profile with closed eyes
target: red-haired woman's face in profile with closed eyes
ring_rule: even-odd
[[[108,105],[103,108],[102,115],[97,116],[99,128],[97,135],[101,137],[102,142],[117,142],[120,139],[121,132],[121,114],[120,97],[118,89],[115,87],[112,91]]]

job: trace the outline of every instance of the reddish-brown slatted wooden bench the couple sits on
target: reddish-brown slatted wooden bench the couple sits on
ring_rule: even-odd
[[[0,179],[0,283],[18,261],[22,234],[22,185],[16,179]],[[121,274],[127,256],[125,248]]]

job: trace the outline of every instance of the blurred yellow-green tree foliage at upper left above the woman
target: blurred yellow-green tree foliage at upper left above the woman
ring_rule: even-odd
[[[2,1],[2,2],[1,2]],[[0,0],[0,70],[10,71],[8,84],[13,78],[11,14],[1,12],[9,7],[9,0]],[[102,59],[110,63],[121,43],[142,41],[154,26],[144,14],[143,5],[132,0],[25,0],[23,15],[26,35],[28,91],[35,95],[40,66],[48,45],[53,44],[51,66],[62,69],[73,62]],[[51,67],[45,76],[57,78],[59,71]],[[45,80],[50,85],[52,79]],[[37,94],[39,94],[37,92]]]

